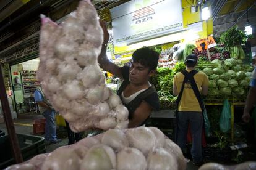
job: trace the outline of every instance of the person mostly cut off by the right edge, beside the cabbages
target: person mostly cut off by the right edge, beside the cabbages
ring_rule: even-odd
[[[256,68],[252,71],[252,79],[250,80],[250,90],[247,95],[244,106],[244,114],[242,115],[242,120],[248,123],[247,128],[247,140],[252,144],[252,150],[256,153],[256,111],[253,111],[252,116],[250,116],[250,111],[256,103]],[[256,108],[254,109],[256,110]]]

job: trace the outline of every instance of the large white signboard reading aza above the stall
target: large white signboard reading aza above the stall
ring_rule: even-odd
[[[114,46],[129,45],[183,29],[179,0],[132,0],[110,12]]]

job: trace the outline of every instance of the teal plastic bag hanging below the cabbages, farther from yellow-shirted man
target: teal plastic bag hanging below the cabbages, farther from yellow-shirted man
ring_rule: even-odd
[[[226,133],[231,128],[231,109],[228,102],[228,99],[224,100],[223,108],[220,116],[220,130],[223,133]]]

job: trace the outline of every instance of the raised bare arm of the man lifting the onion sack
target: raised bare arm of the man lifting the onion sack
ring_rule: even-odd
[[[108,34],[108,28],[106,26],[106,22],[103,22],[100,20],[100,25],[101,25],[101,28],[103,29],[104,41],[102,44],[100,55],[98,56],[98,63],[103,70],[109,71],[113,75],[115,75],[119,78],[122,78],[121,67],[110,62],[106,55],[106,49],[107,49],[107,44],[108,44],[108,40],[109,40],[109,34]]]

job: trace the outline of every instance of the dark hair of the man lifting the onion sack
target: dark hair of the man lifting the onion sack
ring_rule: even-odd
[[[156,69],[158,65],[158,59],[158,52],[150,49],[149,47],[142,47],[137,49],[132,54],[132,61],[134,63],[140,63],[144,67],[148,67],[149,71]]]

